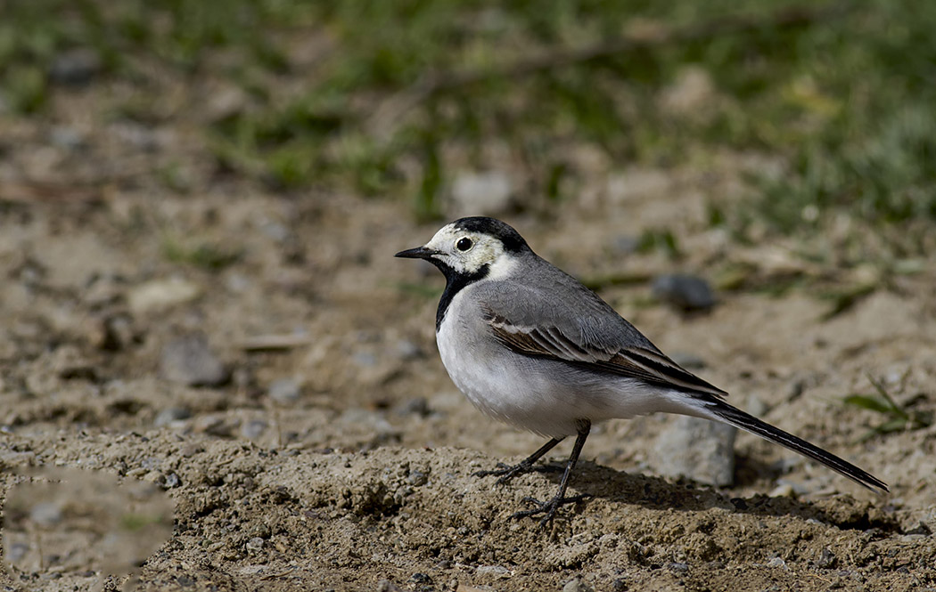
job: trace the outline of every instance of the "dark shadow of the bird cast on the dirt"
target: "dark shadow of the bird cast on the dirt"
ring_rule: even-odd
[[[550,482],[558,486],[562,480],[563,469],[562,466],[547,463],[536,472],[545,475]],[[875,513],[873,516],[869,515],[867,510],[858,513],[829,513],[814,502],[789,497],[771,498],[763,494],[748,498],[731,497],[729,493],[690,480],[667,481],[662,477],[611,469],[592,461],[579,461],[572,477],[572,486],[589,498],[636,504],[650,510],[703,512],[722,508],[733,513],[794,516],[803,521],[812,519],[841,529],[879,528],[884,532],[899,532],[897,521],[882,517],[881,513]],[[853,498],[846,499],[846,503],[858,506],[858,502]]]

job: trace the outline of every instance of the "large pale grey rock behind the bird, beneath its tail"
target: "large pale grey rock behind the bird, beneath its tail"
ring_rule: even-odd
[[[680,416],[657,437],[651,467],[668,477],[717,486],[733,484],[737,433],[732,426]]]

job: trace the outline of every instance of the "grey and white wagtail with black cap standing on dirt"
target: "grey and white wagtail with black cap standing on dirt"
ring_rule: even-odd
[[[866,487],[887,485],[836,455],[724,401],[723,390],[680,368],[576,279],[540,258],[511,226],[461,218],[422,247],[397,253],[425,259],[446,276],[435,338],[448,375],[482,412],[550,440],[513,467],[481,471],[497,483],[576,434],[556,496],[527,499],[545,526],[566,498],[569,475],[592,423],[652,412],[737,426],[806,455]]]

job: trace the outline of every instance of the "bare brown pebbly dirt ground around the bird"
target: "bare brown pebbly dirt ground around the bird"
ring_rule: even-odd
[[[901,404],[936,408],[933,267],[828,320],[828,302],[801,290],[723,292],[710,313],[686,316],[649,303],[649,282],[602,289],[665,352],[701,360],[695,371],[739,407],[891,493],[748,435],[734,486],[664,479],[649,451],[670,419],[653,416],[595,428],[572,483],[592,498],[544,532],[507,517],[521,498],[551,495],[557,475],[504,487],[472,476],[541,440],[455,390],[433,336],[443,280],[392,258],[439,224],[415,224],[404,196],[284,194],[228,177],[191,122],[99,117],[123,92],[63,93],[48,121],[0,123],[0,496],[25,499],[48,528],[20,531],[24,514],[7,508],[5,589],[121,589],[140,562],[129,589],[936,587],[936,426],[862,440],[880,418],[841,404],[873,394],[874,377]],[[65,131],[77,140],[51,139]],[[168,163],[184,191],[154,172]],[[728,261],[768,283],[825,273],[790,244],[742,246],[704,224],[706,200],[730,209],[744,171],[768,165],[743,154],[714,155],[706,170],[606,163],[575,203],[533,200],[504,217],[580,277],[709,277]],[[661,226],[680,237],[680,261],[627,248]],[[212,269],[198,253],[229,256]],[[186,360],[206,355],[193,343],[207,344],[209,385],[186,384],[201,380],[184,377]],[[105,489],[154,484],[147,496],[168,496],[174,519],[127,527],[148,546],[110,556],[118,527],[89,508],[119,501],[68,472],[54,495],[87,506],[42,513],[53,494],[30,487],[54,484],[52,468],[107,475]],[[73,514],[95,536],[53,553]]]

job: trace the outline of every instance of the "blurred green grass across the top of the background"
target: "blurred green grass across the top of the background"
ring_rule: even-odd
[[[586,181],[570,156],[583,146],[616,166],[705,166],[722,149],[780,154],[785,174],[755,175],[748,206],[719,216],[741,238],[753,224],[808,234],[840,211],[868,224],[936,220],[934,3],[846,3],[802,26],[650,43],[519,74],[509,67],[730,15],[769,22],[790,6],[7,0],[0,96],[13,113],[41,116],[54,92],[51,63],[76,47],[96,51],[111,77],[133,79],[135,55],[224,77],[252,106],[206,129],[219,166],[287,189],[415,195],[422,218],[439,214],[454,167],[496,164],[486,146],[499,142],[529,191],[551,199],[575,199]],[[304,69],[287,42],[303,36],[329,45]],[[215,71],[212,52],[232,48],[236,65]],[[716,91],[701,114],[674,113],[661,98],[688,67]],[[459,82],[466,72],[477,76]],[[301,79],[304,91],[283,100],[268,84],[275,77]],[[900,251],[914,254],[914,245]]]

